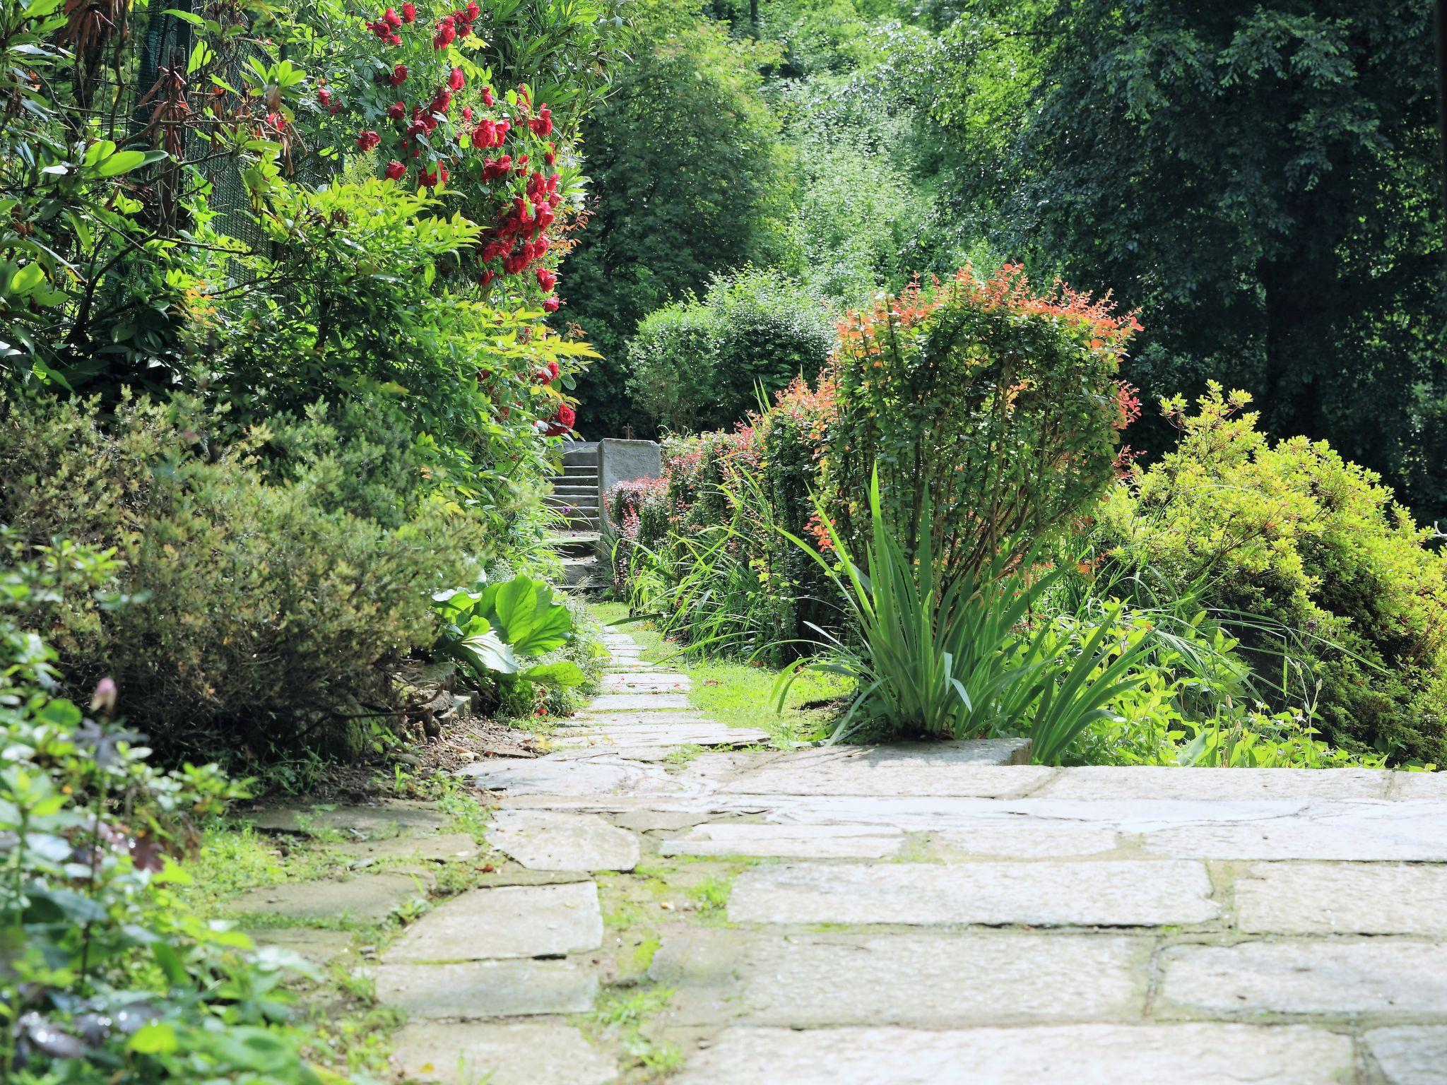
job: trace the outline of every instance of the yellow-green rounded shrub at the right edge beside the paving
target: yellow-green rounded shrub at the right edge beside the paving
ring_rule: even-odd
[[[1323,441],[1272,444],[1249,402],[1166,401],[1179,447],[1108,496],[1098,545],[1146,590],[1197,593],[1253,664],[1298,658],[1294,696],[1331,742],[1447,761],[1447,556],[1376,475]]]

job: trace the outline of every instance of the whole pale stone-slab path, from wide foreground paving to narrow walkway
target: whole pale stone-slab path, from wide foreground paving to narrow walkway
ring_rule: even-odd
[[[414,1078],[1447,1082],[1447,775],[780,752],[609,647],[556,754],[467,770],[548,884],[375,969]]]

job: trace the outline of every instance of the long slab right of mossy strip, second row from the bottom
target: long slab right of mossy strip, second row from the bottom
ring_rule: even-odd
[[[1150,946],[1119,935],[693,930],[666,936],[648,975],[677,992],[673,1024],[724,1014],[790,1029],[1116,1021],[1145,1013]]]

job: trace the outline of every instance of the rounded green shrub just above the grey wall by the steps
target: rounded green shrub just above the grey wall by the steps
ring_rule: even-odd
[[[731,427],[833,347],[829,311],[777,272],[715,278],[702,301],[648,314],[629,341],[629,391],[676,433]]]

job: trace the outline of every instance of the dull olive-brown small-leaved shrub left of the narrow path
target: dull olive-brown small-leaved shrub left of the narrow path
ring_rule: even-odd
[[[0,522],[30,548],[64,534],[126,561],[133,603],[62,608],[54,641],[74,681],[113,676],[168,754],[356,755],[395,707],[388,664],[436,637],[428,596],[486,538],[436,499],[402,503],[395,527],[339,508],[344,456],[268,479],[265,431],[224,444],[220,421],[184,401],[123,398],[104,425],[96,401],[7,402]],[[317,450],[318,431],[313,417],[292,447]]]

